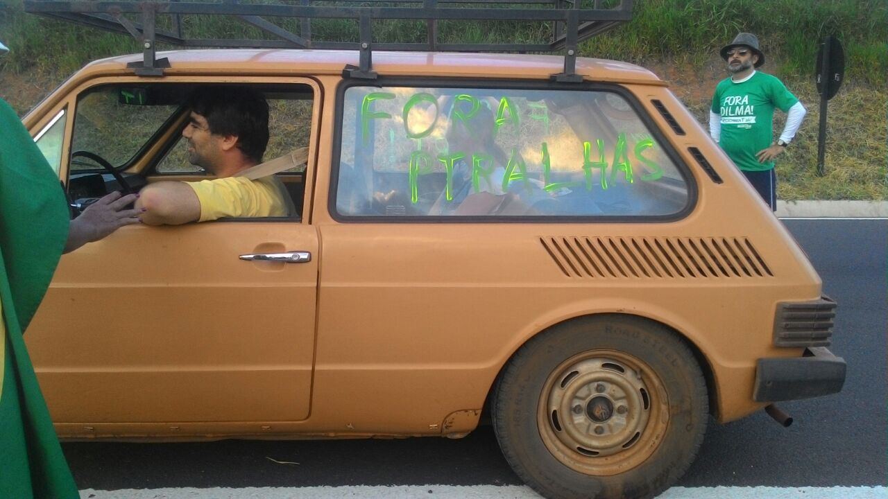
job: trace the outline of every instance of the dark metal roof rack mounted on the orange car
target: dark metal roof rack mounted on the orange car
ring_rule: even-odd
[[[626,22],[632,17],[632,0],[25,0],[25,11],[57,20],[129,33],[141,44],[144,59],[131,63],[137,75],[160,76],[170,67],[155,58],[155,43],[181,47],[356,49],[358,67],[345,68],[346,76],[375,78],[373,49],[392,51],[564,51],[564,72],[552,75],[559,82],[580,82],[575,74],[577,44]],[[189,15],[221,15],[261,29],[273,39],[195,38],[183,34]],[[140,18],[140,22],[137,21]],[[276,22],[267,20],[274,18]],[[293,21],[281,21],[296,18]],[[338,42],[312,36],[312,20],[358,20],[359,40]],[[158,28],[158,21],[164,28]],[[372,25],[378,20],[425,22],[425,40],[416,43],[374,42]],[[439,20],[542,22],[551,26],[546,43],[461,43],[438,41]],[[285,28],[281,25],[296,28]]]

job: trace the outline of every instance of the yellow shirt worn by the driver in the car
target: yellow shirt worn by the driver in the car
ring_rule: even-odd
[[[243,177],[186,182],[201,202],[199,222],[222,217],[287,217],[287,203],[274,176],[250,180]]]

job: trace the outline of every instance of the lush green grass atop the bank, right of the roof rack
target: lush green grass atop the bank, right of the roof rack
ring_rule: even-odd
[[[810,75],[823,36],[844,44],[847,78],[885,86],[888,3],[884,0],[646,0],[632,21],[592,39],[587,49],[610,59],[685,57],[698,64],[741,31],[757,34],[770,70]]]

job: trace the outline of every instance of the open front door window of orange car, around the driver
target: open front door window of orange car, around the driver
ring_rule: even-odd
[[[73,199],[98,198],[121,187],[111,168],[133,190],[164,177],[194,181],[209,172],[188,162],[187,100],[211,83],[116,83],[84,91],[75,109],[69,193]],[[220,83],[226,84],[226,83]],[[240,84],[240,83],[239,83]],[[305,147],[313,127],[315,96],[306,83],[248,83],[269,105],[269,141],[264,160]],[[78,152],[91,154],[78,154]],[[99,160],[109,167],[102,168]],[[123,172],[122,170],[126,170]],[[286,191],[286,219],[301,215],[305,202],[305,164],[277,173],[275,186]],[[224,218],[230,219],[230,218]]]

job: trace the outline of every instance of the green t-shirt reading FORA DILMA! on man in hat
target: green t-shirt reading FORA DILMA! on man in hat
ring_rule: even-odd
[[[775,76],[757,71],[742,83],[725,78],[712,96],[712,112],[721,116],[719,145],[741,170],[771,170],[774,162],[758,162],[756,154],[773,142],[774,107],[785,113],[797,102]]]

